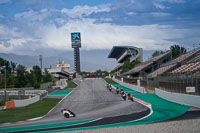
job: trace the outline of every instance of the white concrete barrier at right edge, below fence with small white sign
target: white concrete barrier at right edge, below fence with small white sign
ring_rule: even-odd
[[[168,92],[155,88],[155,94],[171,102],[200,108],[200,96]]]

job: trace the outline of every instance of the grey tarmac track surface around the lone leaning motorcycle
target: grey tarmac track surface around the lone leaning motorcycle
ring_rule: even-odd
[[[124,101],[114,90],[110,92],[106,88],[106,84],[102,79],[85,79],[82,81],[76,81],[76,83],[79,86],[42,119],[0,125],[0,128],[115,117],[147,110],[147,107],[137,102]],[[70,109],[76,114],[76,117],[65,118],[61,113],[61,108]]]

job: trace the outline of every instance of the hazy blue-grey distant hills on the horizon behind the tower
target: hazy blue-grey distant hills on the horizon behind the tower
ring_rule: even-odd
[[[8,61],[13,61],[15,63],[24,65],[26,67],[32,67],[34,65],[40,66],[39,55],[30,56],[30,55],[16,55],[16,54],[10,54],[10,53],[9,54],[0,53],[0,57]],[[72,57],[70,59],[67,59],[67,58],[59,57],[59,56],[51,56],[51,57],[42,58],[43,68],[49,68],[50,66],[52,66],[52,68],[55,68],[59,60],[63,60],[66,64],[70,64],[72,68],[74,67]],[[112,68],[113,68],[112,66],[110,67],[106,65],[90,63],[87,61],[81,61],[81,71],[92,72],[92,71],[96,71],[97,69],[110,70]]]

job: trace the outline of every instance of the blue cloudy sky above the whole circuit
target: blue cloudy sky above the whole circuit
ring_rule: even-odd
[[[200,0],[0,0],[0,53],[57,56],[81,32],[81,51],[106,51],[101,63],[117,45],[148,58],[174,44],[199,47],[199,16]]]

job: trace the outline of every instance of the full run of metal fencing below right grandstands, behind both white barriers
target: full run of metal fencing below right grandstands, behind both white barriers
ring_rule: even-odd
[[[116,79],[121,80],[120,76]],[[157,77],[156,86],[150,83],[147,78],[140,77],[140,86],[147,87],[158,87],[168,92],[176,92],[182,94],[191,94],[200,96],[200,75],[166,75]],[[123,77],[123,82],[137,85],[137,78]],[[186,92],[186,87],[195,87],[195,92]]]

